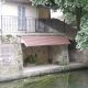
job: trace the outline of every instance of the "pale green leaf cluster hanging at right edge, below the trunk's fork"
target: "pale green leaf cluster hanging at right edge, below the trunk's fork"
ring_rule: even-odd
[[[80,31],[77,33],[77,48],[80,51],[88,48],[88,15],[81,18]]]

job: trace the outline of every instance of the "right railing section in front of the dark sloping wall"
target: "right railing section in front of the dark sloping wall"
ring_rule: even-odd
[[[36,19],[35,22],[36,32],[65,32],[65,20],[59,21],[57,19]]]

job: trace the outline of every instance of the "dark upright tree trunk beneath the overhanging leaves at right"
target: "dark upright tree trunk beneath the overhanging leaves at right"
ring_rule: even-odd
[[[81,19],[81,7],[76,8],[76,22],[77,22],[77,30],[80,31],[80,19]]]

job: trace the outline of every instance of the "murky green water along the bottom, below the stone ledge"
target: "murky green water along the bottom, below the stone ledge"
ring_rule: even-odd
[[[88,88],[88,70],[0,82],[0,88]]]

